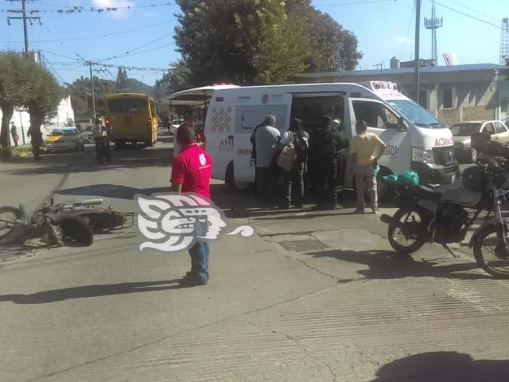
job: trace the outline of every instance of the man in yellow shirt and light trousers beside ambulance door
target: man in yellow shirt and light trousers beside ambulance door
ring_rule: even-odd
[[[357,209],[355,212],[364,213],[364,188],[371,198],[371,211],[378,213],[378,195],[376,193],[376,174],[378,172],[378,159],[385,151],[385,143],[378,135],[366,130],[365,120],[358,120],[355,124],[357,136],[354,136],[350,145],[351,163],[355,175],[357,188]]]

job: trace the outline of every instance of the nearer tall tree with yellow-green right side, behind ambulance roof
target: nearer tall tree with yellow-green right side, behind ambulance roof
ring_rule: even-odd
[[[304,70],[307,36],[281,0],[177,0],[175,40],[191,85],[280,82]],[[296,42],[299,42],[297,44]],[[298,49],[296,49],[298,48]]]

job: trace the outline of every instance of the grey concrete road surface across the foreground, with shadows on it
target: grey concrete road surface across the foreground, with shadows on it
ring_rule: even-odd
[[[0,204],[35,207],[52,193],[135,211],[134,194],[168,187],[162,140],[104,167],[90,150],[1,164]],[[135,228],[90,248],[4,250],[0,380],[508,379],[508,282],[477,269],[466,246],[401,258],[377,216],[264,209],[212,189],[225,230],[255,234],[211,244],[204,287],[179,289],[187,253],[140,252]]]

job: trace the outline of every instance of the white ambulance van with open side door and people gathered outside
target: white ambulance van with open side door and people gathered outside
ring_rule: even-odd
[[[193,89],[179,92],[193,93]],[[366,120],[369,132],[387,144],[380,159],[380,176],[407,170],[419,173],[421,184],[447,184],[459,175],[453,136],[445,125],[410,98],[395,83],[313,83],[218,88],[210,98],[204,135],[213,158],[213,177],[244,189],[254,182],[250,136],[268,113],[276,116],[281,132],[293,117],[311,136],[321,116],[335,107],[344,122],[346,138],[355,136],[355,122]],[[345,177],[350,188],[352,177]],[[379,182],[380,196],[387,191]]]

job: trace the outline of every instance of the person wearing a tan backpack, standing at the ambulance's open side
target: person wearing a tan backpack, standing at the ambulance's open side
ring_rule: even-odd
[[[278,157],[278,166],[283,170],[284,202],[282,208],[291,208],[292,194],[295,196],[293,204],[302,208],[304,198],[304,173],[307,171],[307,157],[309,155],[309,134],[302,129],[302,121],[298,118],[291,120],[288,132],[284,132],[280,140],[282,146]]]

